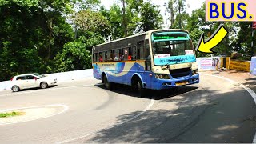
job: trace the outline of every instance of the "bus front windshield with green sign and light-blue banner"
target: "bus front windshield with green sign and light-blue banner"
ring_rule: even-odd
[[[166,32],[152,34],[154,64],[157,66],[195,62],[189,34]]]

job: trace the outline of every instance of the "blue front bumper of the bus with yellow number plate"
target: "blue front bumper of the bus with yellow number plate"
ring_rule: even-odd
[[[183,78],[157,79],[156,82],[153,83],[152,89],[154,90],[164,90],[176,86],[192,85],[194,83],[199,83],[199,74]]]

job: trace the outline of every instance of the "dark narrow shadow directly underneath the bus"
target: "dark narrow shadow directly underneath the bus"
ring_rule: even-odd
[[[104,85],[94,85],[98,88],[105,89]],[[179,94],[184,94],[193,90],[198,89],[198,86],[180,86],[177,89],[173,88],[170,90],[147,90],[146,98],[154,98],[155,100],[162,100],[170,97],[174,97]],[[110,90],[114,93],[123,94],[130,97],[140,97],[138,91],[134,90],[131,86],[125,86],[120,84],[114,84],[114,88]]]

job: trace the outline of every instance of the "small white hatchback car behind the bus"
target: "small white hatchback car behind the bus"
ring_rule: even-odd
[[[12,81],[11,90],[14,92],[34,87],[46,89],[48,86],[54,86],[57,83],[57,78],[50,78],[44,74],[38,73],[17,75],[10,80]]]

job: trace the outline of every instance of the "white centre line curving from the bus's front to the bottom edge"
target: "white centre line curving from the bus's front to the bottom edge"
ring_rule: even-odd
[[[130,118],[130,119],[124,121],[124,122],[118,122],[117,125],[118,125],[118,126],[122,126],[124,123],[130,122],[130,121],[134,120],[135,118],[138,118],[138,117],[141,116],[142,114],[146,113],[147,110],[150,110],[151,106],[154,105],[154,102],[155,102],[155,100],[154,100],[154,98],[152,98],[151,101],[150,101],[150,104],[149,104],[148,106],[146,106],[146,108],[145,108],[144,110],[142,110],[141,113],[135,115],[134,117],[132,117],[132,118]],[[118,126],[110,126],[109,128],[118,127]],[[66,142],[72,142],[72,141],[78,140],[78,139],[80,139],[80,138],[86,138],[86,137],[88,137],[88,136],[90,136],[90,135],[94,135],[94,134],[98,133],[99,131],[100,131],[100,130],[96,130],[96,131],[94,131],[94,132],[91,132],[90,134],[82,135],[82,136],[77,137],[77,138],[70,138],[70,139],[67,139],[67,140],[65,140],[65,141],[58,142],[58,144],[62,144],[62,143],[66,143]]]

